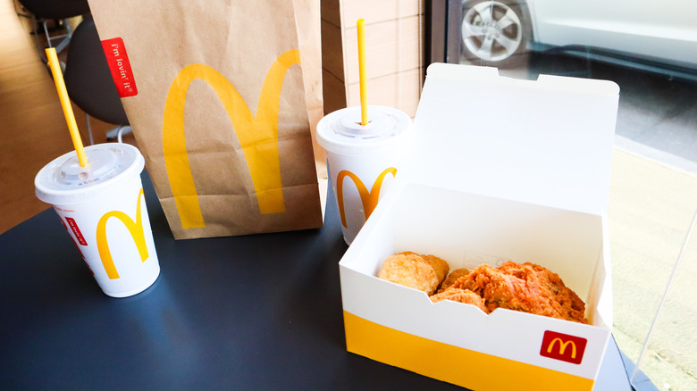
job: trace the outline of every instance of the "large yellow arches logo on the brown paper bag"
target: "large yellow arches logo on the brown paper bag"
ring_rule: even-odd
[[[184,103],[189,85],[204,80],[213,88],[235,129],[256,192],[259,212],[285,212],[278,147],[278,113],[281,86],[290,66],[300,63],[297,49],[281,54],[266,74],[256,118],[232,83],[204,64],[184,67],[172,81],[164,104],[164,165],[183,229],[205,227],[189,165],[184,137]]]

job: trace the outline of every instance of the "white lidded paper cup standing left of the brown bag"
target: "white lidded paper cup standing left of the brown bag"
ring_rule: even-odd
[[[54,206],[104,293],[136,295],[160,274],[140,181],[145,160],[128,144],[87,146],[85,154],[85,167],[74,151],[46,164],[36,195]]]

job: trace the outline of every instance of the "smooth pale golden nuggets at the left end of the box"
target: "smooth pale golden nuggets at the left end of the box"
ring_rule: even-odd
[[[448,262],[438,257],[406,252],[388,257],[382,263],[378,277],[433,295],[448,270]]]

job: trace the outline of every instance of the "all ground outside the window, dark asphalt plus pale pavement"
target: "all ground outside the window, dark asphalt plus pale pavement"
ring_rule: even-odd
[[[697,83],[534,54],[540,73],[610,79],[620,87],[609,199],[617,345],[637,362],[697,211]],[[697,232],[685,247],[639,368],[659,390],[697,389]]]

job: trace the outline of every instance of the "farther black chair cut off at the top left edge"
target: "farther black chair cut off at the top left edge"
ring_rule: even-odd
[[[44,62],[46,62],[46,54],[44,54],[43,47],[38,42],[38,25],[41,24],[43,26],[48,47],[55,47],[56,52],[61,52],[68,46],[72,35],[71,24],[66,20],[89,13],[87,0],[20,0],[20,4],[31,13],[38,55]],[[55,21],[56,27],[59,24],[63,24],[66,33],[51,37],[48,27],[50,21]],[[54,42],[58,42],[58,45],[54,46]]]

